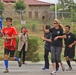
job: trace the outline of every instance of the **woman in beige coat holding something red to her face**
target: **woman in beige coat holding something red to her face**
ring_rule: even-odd
[[[25,57],[26,57],[26,52],[28,49],[28,34],[27,30],[25,27],[21,28],[21,32],[19,33],[19,42],[18,42],[18,51],[19,51],[19,59],[21,60],[22,56],[22,62],[25,64]]]

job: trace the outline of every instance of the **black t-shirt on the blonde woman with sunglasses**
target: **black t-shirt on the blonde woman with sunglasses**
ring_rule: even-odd
[[[62,38],[58,38],[56,41],[54,40],[54,38],[57,36],[64,35],[63,29],[62,28],[59,28],[59,29],[51,28],[49,31],[52,33],[51,45],[56,46],[56,47],[62,47]]]

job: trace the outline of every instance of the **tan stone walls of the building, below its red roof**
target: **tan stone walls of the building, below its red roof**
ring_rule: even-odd
[[[12,17],[14,19],[20,19],[20,14],[18,14],[15,9],[14,3],[4,3],[5,10],[3,13],[4,17]],[[26,10],[22,12],[23,19],[38,19],[41,20],[42,16],[47,16],[48,12],[50,11],[50,6],[28,6],[26,5]]]

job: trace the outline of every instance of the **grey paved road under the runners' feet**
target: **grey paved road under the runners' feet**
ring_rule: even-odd
[[[62,71],[61,67],[57,73],[57,75],[76,75],[76,63],[72,63],[73,70],[72,71]],[[27,64],[22,65],[22,67],[18,67],[17,62],[9,62],[9,73],[3,73],[4,71],[4,63],[0,61],[0,75],[50,75],[52,71],[52,66],[50,64],[50,69],[43,71],[43,62],[39,63],[31,63],[27,62]],[[68,66],[65,64],[65,68]]]

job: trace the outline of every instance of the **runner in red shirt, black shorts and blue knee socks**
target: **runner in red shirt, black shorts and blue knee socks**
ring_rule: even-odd
[[[10,54],[10,59],[18,61],[19,67],[22,66],[19,58],[14,57],[16,50],[16,37],[18,33],[15,27],[12,26],[12,18],[6,18],[6,26],[1,30],[0,36],[4,39],[4,64],[5,71],[4,73],[8,73],[8,55]]]

